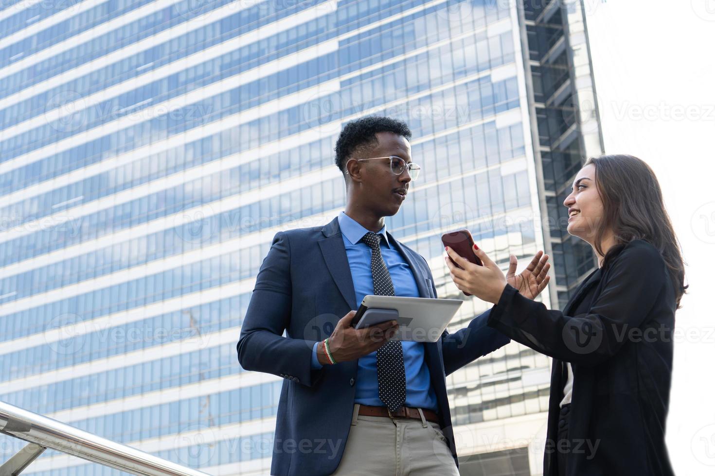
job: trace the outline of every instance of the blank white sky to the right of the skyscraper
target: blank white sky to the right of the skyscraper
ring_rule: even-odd
[[[671,461],[679,476],[714,475],[715,0],[584,4],[606,153],[654,168],[688,263],[666,427]]]

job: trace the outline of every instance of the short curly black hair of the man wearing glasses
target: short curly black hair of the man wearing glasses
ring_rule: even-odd
[[[384,116],[365,116],[345,124],[335,143],[335,165],[345,171],[347,159],[364,146],[377,144],[378,132],[393,132],[406,139],[412,137],[412,131],[404,121]]]

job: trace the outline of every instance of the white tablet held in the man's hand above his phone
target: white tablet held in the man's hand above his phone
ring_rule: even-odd
[[[459,299],[367,295],[355,313],[352,325],[361,329],[394,319],[400,328],[391,340],[437,342],[463,302]]]

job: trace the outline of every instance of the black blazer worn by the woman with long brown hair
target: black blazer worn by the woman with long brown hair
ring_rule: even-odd
[[[573,369],[566,474],[674,474],[665,424],[675,310],[666,264],[643,240],[591,273],[563,313],[507,286],[488,325],[553,357],[544,476],[558,475],[562,362]]]

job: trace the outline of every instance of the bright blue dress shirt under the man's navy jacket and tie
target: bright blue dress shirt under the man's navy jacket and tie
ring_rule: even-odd
[[[360,223],[340,212],[337,217],[345,243],[347,262],[350,264],[352,283],[355,286],[355,302],[362,303],[365,295],[374,294],[373,271],[370,269],[371,250],[360,238],[368,233]],[[390,245],[385,227],[379,232],[380,252],[393,280],[396,296],[419,298],[415,276],[410,265],[400,252]],[[317,345],[313,345],[312,368],[322,368],[317,360]],[[355,382],[355,403],[383,407],[385,404],[378,395],[378,353],[375,351],[358,359],[358,378]],[[405,360],[405,384],[407,395],[406,407],[428,408],[437,411],[437,396],[430,383],[430,370],[425,363],[425,346],[419,342],[403,340],[403,358]]]

